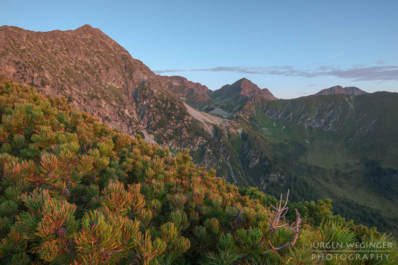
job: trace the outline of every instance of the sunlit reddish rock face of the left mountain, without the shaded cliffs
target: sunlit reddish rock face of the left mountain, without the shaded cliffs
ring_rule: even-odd
[[[145,85],[155,93],[155,75],[99,29],[84,25],[33,32],[2,26],[0,45],[5,76],[41,93],[64,95],[79,109],[111,120],[122,131],[133,134],[143,129],[132,92]]]

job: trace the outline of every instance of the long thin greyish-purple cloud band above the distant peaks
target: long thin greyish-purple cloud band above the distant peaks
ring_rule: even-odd
[[[274,75],[286,77],[319,77],[334,76],[353,81],[398,81],[397,65],[353,65],[332,66],[319,65],[312,69],[296,68],[292,65],[269,67],[242,67],[242,66],[218,66],[214,68],[190,69],[190,70],[162,70],[155,73],[172,73],[186,71],[202,72],[234,72],[242,74]]]

